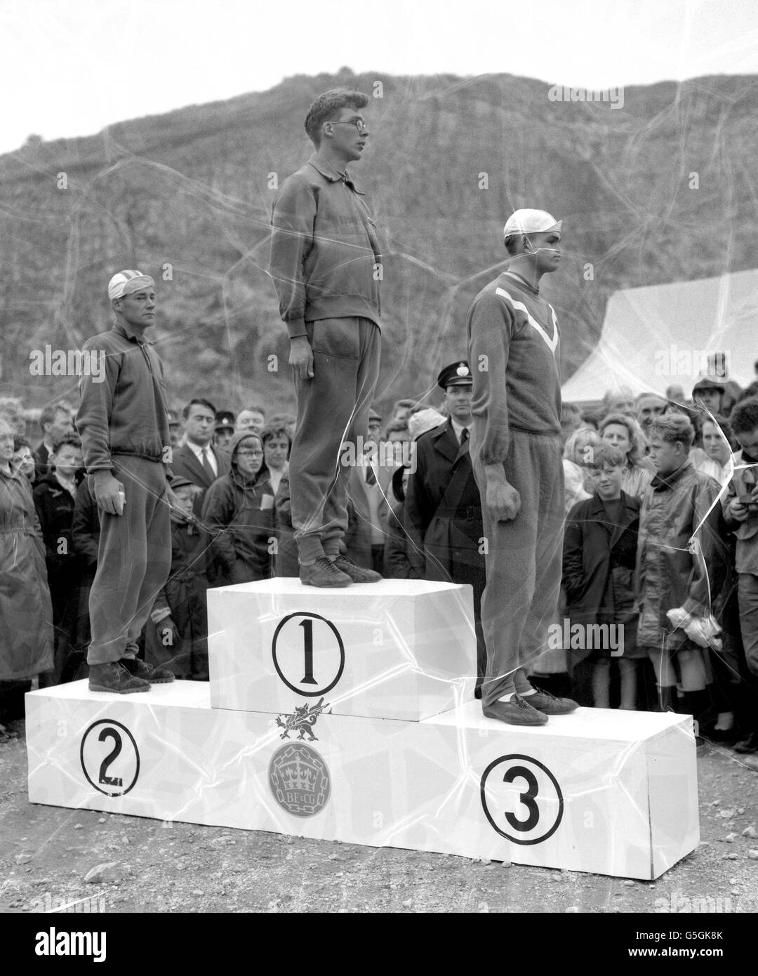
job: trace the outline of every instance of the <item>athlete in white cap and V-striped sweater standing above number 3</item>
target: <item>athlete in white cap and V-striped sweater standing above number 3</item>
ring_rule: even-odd
[[[561,221],[517,210],[503,227],[507,270],[468,310],[473,399],[470,454],[482,499],[487,586],[482,627],[485,715],[543,725],[570,699],[534,688],[527,669],[546,649],[561,585],[564,486],[560,335],[539,295],[561,260]]]

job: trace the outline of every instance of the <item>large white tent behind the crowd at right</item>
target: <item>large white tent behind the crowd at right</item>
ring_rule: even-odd
[[[564,384],[563,399],[599,400],[616,386],[636,394],[678,385],[689,396],[716,353],[730,380],[755,379],[758,269],[615,292],[600,342]]]

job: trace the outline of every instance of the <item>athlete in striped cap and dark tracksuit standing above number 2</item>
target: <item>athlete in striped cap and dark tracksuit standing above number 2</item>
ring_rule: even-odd
[[[98,503],[98,571],[90,591],[90,689],[126,694],[173,681],[137,658],[137,641],[171,569],[167,484],[171,437],[163,365],[144,333],[155,322],[155,285],[140,271],[114,274],[109,332],[84,351],[101,369],[79,381],[76,428],[90,491]]]

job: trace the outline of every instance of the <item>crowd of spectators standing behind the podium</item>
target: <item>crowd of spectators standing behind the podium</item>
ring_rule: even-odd
[[[459,434],[466,422],[456,395]],[[430,556],[406,508],[409,495],[419,508],[423,489],[417,441],[448,424],[451,403],[435,409],[404,397],[386,418],[372,411],[351,464],[345,554],[384,577],[440,579],[445,553]],[[46,407],[34,436],[20,401],[0,398],[7,717],[32,681],[86,673],[99,519],[72,416],[69,404]],[[298,575],[288,472],[295,421],[267,419],[259,405],[218,410],[199,397],[169,420],[180,503],[172,569],[140,645],[149,664],[207,680],[205,591]],[[691,400],[679,387],[636,397],[611,389],[590,410],[564,404],[561,426],[566,526],[554,623],[568,622],[566,633],[615,626],[623,640],[620,653],[618,640],[549,644],[535,679],[584,706],[692,712],[706,738],[758,752],[758,385],[739,392],[701,377]]]

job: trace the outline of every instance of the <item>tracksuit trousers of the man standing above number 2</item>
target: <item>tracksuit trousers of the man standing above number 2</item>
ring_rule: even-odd
[[[121,515],[99,511],[89,665],[136,656],[137,640],[171,572],[171,517],[163,465],[128,455],[115,455],[112,462],[113,476],[124,485],[126,505]],[[90,475],[93,498],[94,481]]]

